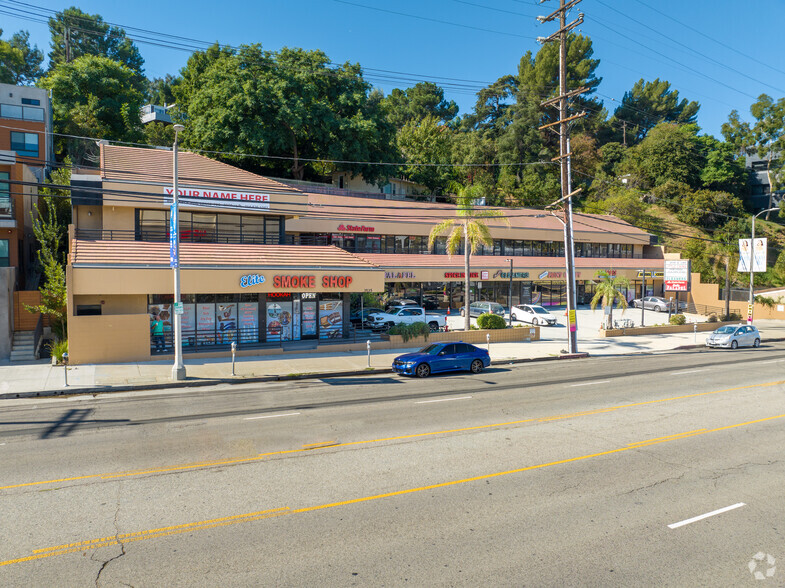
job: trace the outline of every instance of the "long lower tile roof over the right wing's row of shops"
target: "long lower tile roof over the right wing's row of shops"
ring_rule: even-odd
[[[463,255],[393,255],[390,253],[358,253],[359,257],[384,269],[403,268],[448,268],[463,270]],[[473,255],[471,267],[509,269],[509,257],[497,255]],[[513,257],[515,268],[553,268],[563,267],[563,257]],[[576,257],[577,269],[663,269],[662,259],[627,257]]]

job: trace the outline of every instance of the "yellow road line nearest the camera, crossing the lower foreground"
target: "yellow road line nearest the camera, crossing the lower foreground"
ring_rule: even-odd
[[[571,457],[567,459],[560,459],[558,461],[551,461],[547,463],[541,463],[537,465],[525,466],[522,468],[517,468],[514,470],[507,470],[504,472],[495,472],[491,474],[483,474],[481,476],[473,476],[471,478],[463,478],[460,480],[451,480],[449,482],[441,482],[439,484],[430,484],[428,486],[419,486],[417,488],[406,488],[404,490],[397,490],[395,492],[387,492],[384,494],[374,494],[372,496],[363,496],[361,498],[352,498],[350,500],[344,500],[341,502],[330,502],[327,504],[319,504],[315,506],[307,506],[303,508],[299,508],[296,510],[291,510],[288,507],[284,508],[275,508],[269,510],[261,510],[256,512],[250,512],[245,514],[239,515],[232,515],[218,519],[209,519],[205,521],[198,521],[195,523],[185,523],[182,525],[173,525],[169,527],[160,527],[157,529],[150,529],[147,531],[136,531],[134,533],[123,533],[118,534],[115,536],[108,536],[108,537],[101,537],[98,539],[88,539],[86,541],[79,541],[75,543],[66,543],[64,545],[56,545],[54,547],[45,547],[42,549],[33,550],[32,555],[19,557],[16,559],[9,559],[6,561],[0,561],[0,567],[18,564],[28,561],[33,561],[37,559],[44,559],[48,557],[53,557],[56,555],[66,555],[69,553],[77,553],[81,551],[88,551],[90,549],[97,549],[99,547],[106,547],[108,545],[118,545],[118,544],[125,544],[131,543],[134,541],[144,541],[147,539],[157,539],[160,537],[167,537],[170,535],[175,535],[179,533],[190,533],[195,531],[201,531],[204,529],[212,529],[215,527],[223,527],[228,525],[237,525],[240,523],[248,523],[252,521],[258,521],[262,519],[268,519],[272,517],[278,517],[282,515],[293,515],[293,514],[302,514],[307,512],[312,512],[316,510],[324,510],[326,508],[334,508],[337,506],[348,506],[351,504],[358,504],[361,502],[370,502],[373,500],[380,500],[383,498],[392,498],[395,496],[403,496],[405,494],[413,494],[415,492],[423,492],[427,490],[435,490],[437,488],[446,488],[448,486],[457,486],[459,484],[467,484],[469,482],[477,482],[480,480],[489,480],[491,478],[498,478],[501,476],[509,476],[511,474],[518,474],[521,472],[527,472],[530,470],[537,470],[542,468],[547,468],[556,465],[562,465],[566,463],[572,463],[576,461],[581,461],[584,459],[591,459],[595,457],[602,457],[605,455],[612,455],[614,453],[623,453],[625,451],[631,451],[633,449],[639,449],[640,447],[648,447],[651,445],[657,445],[660,443],[670,443],[673,441],[679,441],[681,439],[686,439],[689,437],[695,437],[698,435],[707,435],[709,433],[716,433],[718,431],[727,431],[729,429],[736,429],[738,427],[746,427],[748,425],[753,425],[756,423],[764,423],[767,421],[773,421],[777,419],[785,418],[785,414],[780,414],[771,417],[765,417],[762,419],[757,419],[754,421],[746,421],[743,423],[736,423],[733,425],[726,425],[723,427],[716,427],[714,429],[696,429],[694,431],[687,431],[686,433],[677,433],[674,435],[667,435],[665,437],[657,437],[655,439],[648,439],[645,441],[639,441],[636,443],[630,443],[626,447],[620,447],[618,449],[610,449],[608,451],[600,451],[598,453],[590,453],[588,455],[581,455],[578,457]]]

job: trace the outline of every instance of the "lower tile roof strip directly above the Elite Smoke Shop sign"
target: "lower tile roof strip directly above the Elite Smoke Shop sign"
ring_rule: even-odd
[[[75,267],[169,267],[169,243],[147,241],[71,241]],[[253,267],[318,270],[375,270],[372,262],[333,245],[227,245],[180,243],[180,267]]]

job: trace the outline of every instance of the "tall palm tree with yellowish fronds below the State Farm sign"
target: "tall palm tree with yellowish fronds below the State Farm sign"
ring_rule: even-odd
[[[488,226],[482,219],[492,217],[503,217],[504,214],[500,210],[489,210],[477,207],[477,200],[483,197],[484,190],[481,186],[453,186],[455,191],[455,201],[458,205],[456,209],[457,217],[448,218],[440,222],[438,225],[431,229],[428,236],[428,247],[433,248],[436,238],[442,233],[446,233],[449,229],[450,234],[447,237],[447,253],[455,255],[461,247],[461,242],[466,243],[464,247],[464,308],[466,309],[464,323],[464,330],[471,329],[471,313],[469,312],[469,259],[472,253],[477,252],[480,244],[491,246],[493,245],[493,237],[488,230]],[[510,221],[504,219],[504,222],[509,225]]]

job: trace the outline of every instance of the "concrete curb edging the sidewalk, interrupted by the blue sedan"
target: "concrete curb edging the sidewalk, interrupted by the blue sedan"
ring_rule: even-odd
[[[510,365],[519,363],[533,363],[541,361],[557,361],[561,359],[585,359],[589,357],[588,353],[574,353],[571,355],[553,355],[548,357],[527,357],[522,359],[500,359],[492,361],[491,365]],[[184,382],[166,382],[160,384],[126,384],[122,386],[95,386],[92,388],[66,388],[62,390],[45,390],[43,392],[18,392],[18,393],[5,393],[0,394],[0,400],[16,399],[16,398],[48,398],[48,397],[66,397],[66,396],[79,396],[90,394],[97,396],[98,394],[107,394],[113,392],[135,392],[141,390],[171,390],[172,388],[202,388],[205,386],[219,386],[223,384],[237,385],[237,384],[254,384],[257,382],[287,382],[296,380],[313,380],[320,378],[346,378],[346,377],[360,377],[376,374],[391,374],[392,368],[366,368],[363,370],[351,370],[343,372],[313,372],[303,374],[287,374],[279,376],[250,376],[250,377],[234,377],[234,378],[210,378],[199,380],[186,380]]]

